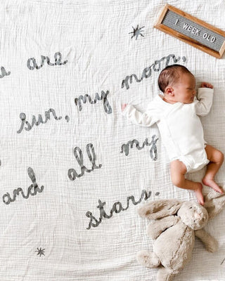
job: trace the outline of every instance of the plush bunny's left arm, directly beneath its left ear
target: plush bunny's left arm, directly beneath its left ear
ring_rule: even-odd
[[[160,218],[153,223],[150,223],[147,228],[148,236],[155,240],[164,230],[174,226],[179,219],[180,218],[178,216],[166,216],[165,218]]]

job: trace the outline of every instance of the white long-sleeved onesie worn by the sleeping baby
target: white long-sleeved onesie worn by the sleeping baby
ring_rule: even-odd
[[[187,172],[198,171],[210,162],[198,115],[205,116],[210,112],[212,97],[213,89],[210,88],[199,88],[198,99],[195,97],[193,103],[171,104],[156,96],[148,104],[146,112],[139,112],[128,104],[122,115],[141,126],[158,124],[169,160],[180,160],[186,165]]]

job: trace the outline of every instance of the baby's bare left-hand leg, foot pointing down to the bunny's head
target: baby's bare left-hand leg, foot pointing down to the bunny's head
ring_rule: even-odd
[[[178,188],[184,188],[193,190],[197,197],[198,203],[204,204],[203,198],[203,185],[201,183],[195,183],[194,181],[186,180],[186,166],[183,162],[179,160],[174,160],[170,163],[170,174],[172,183],[176,185]]]

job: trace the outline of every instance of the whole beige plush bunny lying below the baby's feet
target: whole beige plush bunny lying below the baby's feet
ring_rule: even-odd
[[[209,218],[221,211],[225,194],[214,190],[205,196],[204,207],[196,202],[156,200],[139,208],[140,216],[153,219],[147,234],[155,240],[153,251],[139,251],[136,259],[148,268],[160,267],[157,281],[171,281],[190,261],[195,236],[207,251],[217,251],[217,241],[203,228]]]

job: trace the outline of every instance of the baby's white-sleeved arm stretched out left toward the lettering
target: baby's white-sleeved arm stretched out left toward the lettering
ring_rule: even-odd
[[[128,117],[134,124],[140,126],[152,126],[157,119],[153,117],[149,110],[147,112],[140,112],[131,104],[124,103],[122,105],[122,115]]]

